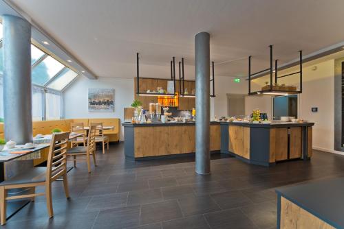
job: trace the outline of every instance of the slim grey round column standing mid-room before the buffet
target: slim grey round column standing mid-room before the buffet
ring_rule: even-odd
[[[210,35],[195,36],[196,173],[211,172],[210,133]]]

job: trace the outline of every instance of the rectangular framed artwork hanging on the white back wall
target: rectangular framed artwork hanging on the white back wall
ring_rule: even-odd
[[[114,112],[114,88],[88,88],[89,112]]]

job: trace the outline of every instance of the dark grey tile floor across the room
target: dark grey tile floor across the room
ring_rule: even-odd
[[[270,168],[217,154],[200,176],[193,157],[133,162],[123,146],[98,152],[91,174],[83,163],[68,173],[70,200],[54,182],[54,218],[37,197],[3,228],[276,228],[277,186],[344,176],[344,156],[318,151]]]

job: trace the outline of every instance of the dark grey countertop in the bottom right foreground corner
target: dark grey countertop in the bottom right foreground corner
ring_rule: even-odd
[[[344,178],[283,187],[276,192],[334,228],[344,228]]]

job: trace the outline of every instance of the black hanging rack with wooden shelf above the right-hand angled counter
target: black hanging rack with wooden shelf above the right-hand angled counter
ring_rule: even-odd
[[[251,74],[251,58],[252,56],[248,56],[248,95],[292,95],[292,94],[299,94],[302,93],[302,50],[299,51],[299,68],[300,70],[294,73],[289,73],[286,75],[281,75],[278,76],[277,72],[278,72],[278,60],[275,60],[275,70],[273,69],[273,58],[272,58],[272,45],[269,45],[270,48],[270,68],[268,69],[264,69],[261,71],[258,71],[256,73],[252,73]],[[266,90],[261,90],[261,91],[251,91],[251,80],[252,80],[252,76],[254,75],[258,75],[259,73],[264,73],[270,71],[270,88],[266,89]],[[300,86],[299,86],[299,91],[286,91],[286,90],[277,90],[273,88],[272,85],[272,79],[274,77],[274,73],[275,72],[275,84],[277,84],[277,81],[279,78],[282,77],[287,77],[290,75],[295,75],[295,74],[299,74],[300,73]],[[267,72],[268,73],[268,72]]]

